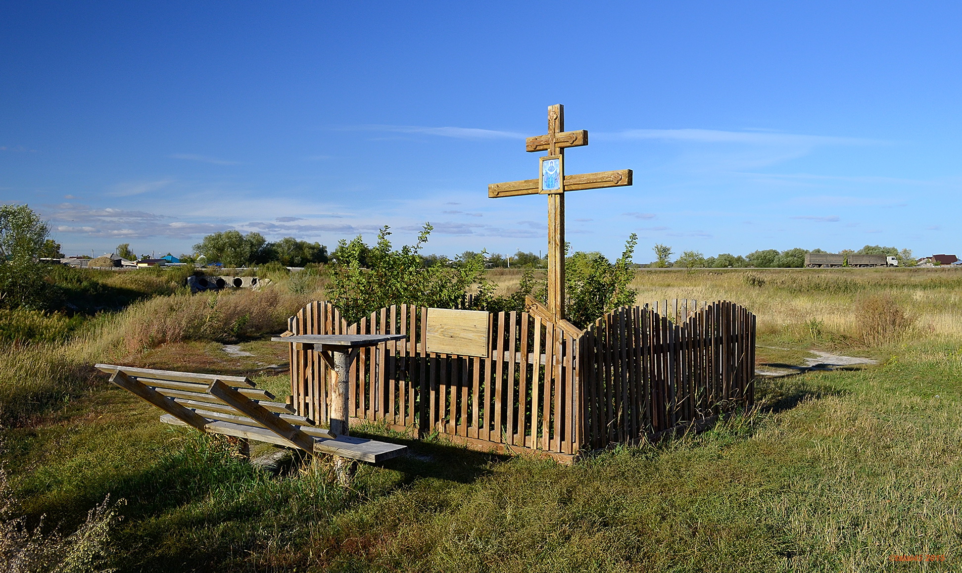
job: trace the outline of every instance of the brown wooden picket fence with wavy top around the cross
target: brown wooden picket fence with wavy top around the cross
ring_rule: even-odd
[[[667,315],[649,305],[609,312],[581,336],[528,312],[491,313],[485,357],[426,353],[427,309],[413,305],[347,325],[333,305],[313,302],[289,330],[408,335],[362,349],[352,363],[355,421],[572,461],[751,403],[754,315],[729,302],[659,307]],[[328,419],[328,376],[315,352],[291,344],[293,405],[320,423]]]

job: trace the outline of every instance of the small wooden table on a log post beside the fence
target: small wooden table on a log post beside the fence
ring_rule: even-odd
[[[347,419],[350,417],[348,400],[350,392],[349,368],[351,361],[362,348],[377,346],[382,342],[403,340],[407,335],[294,335],[274,336],[274,342],[303,344],[305,350],[315,350],[334,371],[328,387],[330,396],[331,432],[338,436],[350,436]]]

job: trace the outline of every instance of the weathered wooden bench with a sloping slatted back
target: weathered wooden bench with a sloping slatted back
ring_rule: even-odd
[[[114,364],[95,367],[111,382],[166,413],[161,421],[201,432],[289,446],[308,454],[330,454],[378,463],[407,453],[407,446],[353,436],[335,436],[275,402],[268,391],[241,376],[194,374]]]

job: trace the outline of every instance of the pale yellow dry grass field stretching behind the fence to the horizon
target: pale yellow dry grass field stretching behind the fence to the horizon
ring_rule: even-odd
[[[520,276],[514,269],[489,271],[498,294],[517,289]],[[765,336],[867,346],[906,335],[962,337],[962,270],[955,268],[639,269],[631,287],[638,289],[639,304],[675,298],[736,302],[758,316]],[[891,324],[860,319],[859,305],[866,311],[874,306],[871,312]]]

